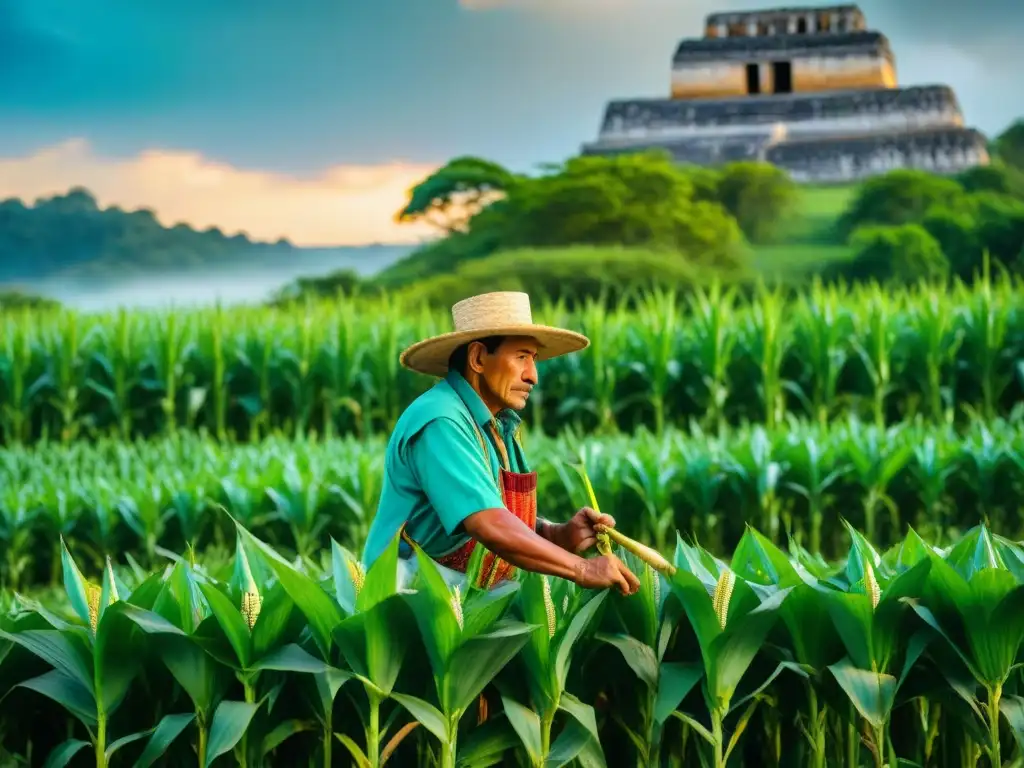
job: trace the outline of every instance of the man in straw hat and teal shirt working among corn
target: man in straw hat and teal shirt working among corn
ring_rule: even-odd
[[[481,575],[490,585],[523,568],[633,594],[640,582],[614,555],[581,556],[596,543],[597,523],[614,525],[609,515],[584,507],[564,523],[537,517],[537,473],[516,438],[537,361],[585,349],[589,340],[535,325],[522,293],[465,299],[452,317],[453,333],[401,353],[402,366],[441,380],[406,410],[388,441],[364,561],[400,536],[403,556],[415,543],[465,572],[481,544]]]

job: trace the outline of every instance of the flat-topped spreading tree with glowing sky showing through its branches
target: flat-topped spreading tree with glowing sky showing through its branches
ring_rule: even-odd
[[[410,190],[409,204],[395,220],[427,221],[445,234],[465,231],[476,214],[502,199],[517,181],[515,174],[497,163],[456,158]]]

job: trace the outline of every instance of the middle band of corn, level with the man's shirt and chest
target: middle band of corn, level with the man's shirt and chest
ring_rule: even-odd
[[[582,440],[524,435],[541,514],[587,504],[571,465],[631,537],[666,550],[673,531],[720,556],[748,523],[842,555],[849,519],[879,546],[913,525],[946,545],[985,523],[1024,538],[1024,423],[788,420],[702,433],[667,429]],[[581,453],[579,446],[585,445]],[[40,443],[0,453],[0,586],[60,579],[61,538],[88,567],[126,552],[154,568],[171,552],[229,551],[222,510],[272,546],[309,557],[333,537],[360,551],[383,482],[383,437],[230,444],[194,433],[154,441]]]

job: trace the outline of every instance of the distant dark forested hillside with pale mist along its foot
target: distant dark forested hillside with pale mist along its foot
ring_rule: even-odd
[[[81,308],[262,300],[310,274],[369,276],[411,247],[298,248],[217,228],[166,227],[154,212],[100,208],[86,189],[0,202],[0,287]]]

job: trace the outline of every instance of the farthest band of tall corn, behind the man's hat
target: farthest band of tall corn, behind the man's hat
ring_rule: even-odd
[[[713,285],[567,308],[540,322],[586,333],[584,354],[542,364],[535,431],[588,433],[787,416],[880,426],[1010,418],[1024,398],[1024,291],[1009,279],[952,291],[815,285],[795,295]],[[202,429],[387,432],[431,381],[398,366],[450,329],[444,310],[388,297],[296,307],[0,316],[0,441],[122,439]]]

